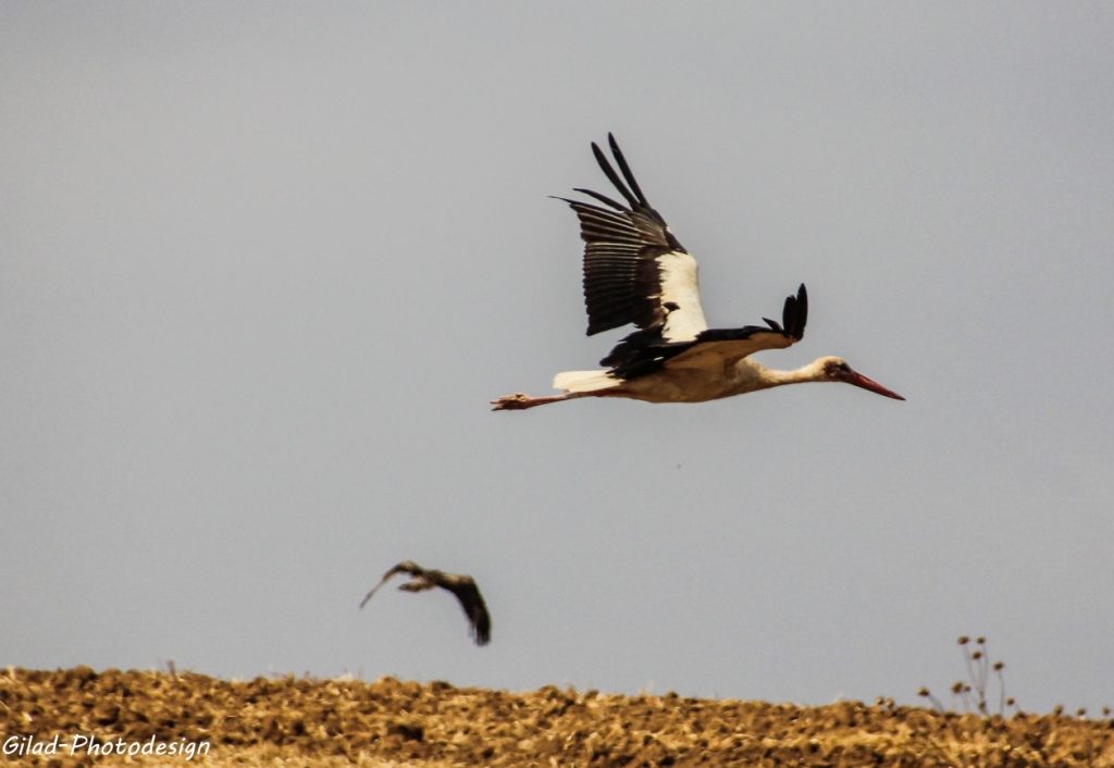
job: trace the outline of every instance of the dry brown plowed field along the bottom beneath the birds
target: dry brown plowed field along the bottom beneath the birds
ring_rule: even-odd
[[[136,752],[71,756],[61,746],[53,755],[6,758],[55,766],[1114,766],[1110,720],[553,687],[508,693],[391,678],[228,682],[193,673],[9,669],[0,672],[0,723],[7,750],[33,749],[58,735],[61,745],[95,737]],[[165,754],[169,745],[201,742],[208,754],[192,760]],[[163,745],[164,755],[144,755],[152,745]]]

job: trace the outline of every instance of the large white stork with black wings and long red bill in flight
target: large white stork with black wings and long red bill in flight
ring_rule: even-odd
[[[592,144],[599,167],[626,200],[576,189],[607,207],[560,197],[580,218],[584,300],[588,336],[634,323],[634,331],[599,361],[607,370],[566,371],[554,379],[564,395],[507,395],[491,410],[525,410],[578,397],[625,397],[647,402],[704,402],[805,381],[842,381],[905,400],[839,358],[820,358],[795,371],[779,371],[750,359],[754,352],[785,349],[804,337],[809,294],[802,284],[785,299],[781,322],[710,329],[700,303],[696,260],[673,236],[634,181],[615,137],[607,135],[623,178]],[[624,179],[626,183],[624,184]]]

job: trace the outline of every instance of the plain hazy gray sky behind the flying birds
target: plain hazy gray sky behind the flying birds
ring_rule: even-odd
[[[0,663],[1114,704],[1110,3],[0,4]],[[595,367],[615,132],[714,327]],[[471,573],[486,649],[412,558]]]

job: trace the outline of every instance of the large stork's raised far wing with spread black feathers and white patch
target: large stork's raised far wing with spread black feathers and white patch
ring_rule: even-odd
[[[580,237],[586,243],[584,301],[588,336],[634,323],[642,334],[658,341],[692,341],[707,330],[696,260],[646,202],[615,137],[608,134],[607,139],[623,178],[595,143],[592,150],[628,205],[590,189],[577,192],[607,207],[560,198],[579,216]]]

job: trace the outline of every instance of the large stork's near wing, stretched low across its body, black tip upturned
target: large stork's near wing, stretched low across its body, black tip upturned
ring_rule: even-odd
[[[802,284],[797,295],[785,299],[781,323],[763,318],[766,327],[707,330],[691,342],[646,346],[633,351],[613,373],[629,381],[662,368],[707,369],[733,366],[754,352],[785,349],[800,341],[804,338],[808,319],[809,294]]]

